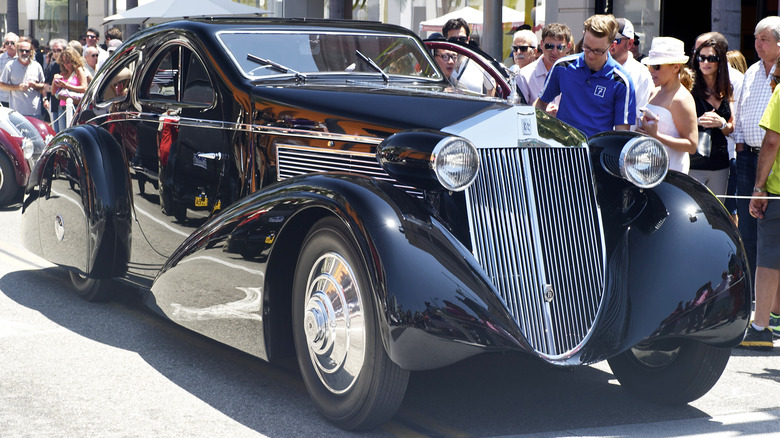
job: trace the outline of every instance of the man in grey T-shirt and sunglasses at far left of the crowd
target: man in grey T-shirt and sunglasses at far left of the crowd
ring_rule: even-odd
[[[33,57],[32,43],[27,37],[16,43],[17,58],[0,73],[0,89],[9,91],[11,109],[22,115],[41,118],[44,92],[43,67]]]

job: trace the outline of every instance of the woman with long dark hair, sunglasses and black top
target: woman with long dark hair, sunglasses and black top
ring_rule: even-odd
[[[710,136],[710,155],[691,155],[690,175],[716,195],[725,195],[729,179],[729,151],[726,136],[734,130],[733,95],[729,81],[729,51],[725,38],[710,38],[696,49],[693,68],[696,79],[693,99],[699,132]]]

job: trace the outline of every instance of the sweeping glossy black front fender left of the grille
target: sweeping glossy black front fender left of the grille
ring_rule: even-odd
[[[185,241],[152,287],[154,305],[175,320],[169,303],[181,308],[185,295],[194,293],[193,285],[208,284],[208,277],[212,286],[202,293],[215,298],[191,297],[196,302],[188,308],[221,306],[216,295],[235,299],[236,290],[262,281],[263,305],[256,311],[263,318],[262,336],[217,328],[214,322],[177,322],[258,356],[272,356],[268,350],[289,331],[289,296],[303,237],[317,219],[332,215],[347,225],[360,248],[385,348],[401,367],[440,367],[489,349],[527,350],[471,254],[420,205],[369,178],[321,174],[286,180],[240,201]],[[223,261],[209,262],[217,258]],[[225,280],[215,286],[213,278]],[[239,339],[250,335],[255,345]],[[258,347],[258,339],[265,345]]]

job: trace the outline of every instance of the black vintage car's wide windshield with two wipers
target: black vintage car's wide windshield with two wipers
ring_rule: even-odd
[[[218,38],[249,78],[283,74],[247,55],[273,61],[304,75],[369,73],[379,75],[355,52],[371,58],[387,75],[440,79],[424,48],[406,35],[372,33],[220,32]]]

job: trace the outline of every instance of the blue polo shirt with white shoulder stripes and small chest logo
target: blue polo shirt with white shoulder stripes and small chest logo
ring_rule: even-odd
[[[550,69],[539,98],[552,102],[561,95],[558,118],[588,137],[616,125],[636,123],[636,97],[631,76],[612,56],[592,72],[585,54],[561,58]]]

